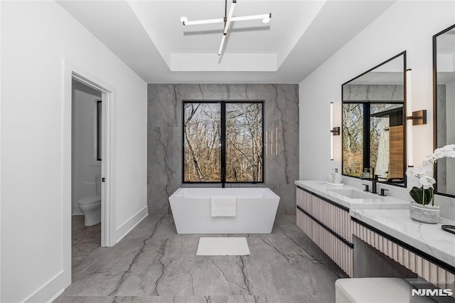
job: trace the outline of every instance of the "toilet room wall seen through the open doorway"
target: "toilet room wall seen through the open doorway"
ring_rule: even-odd
[[[73,215],[82,215],[77,201],[96,194],[95,176],[101,174],[96,159],[97,101],[101,92],[73,81],[73,159],[71,201]]]

